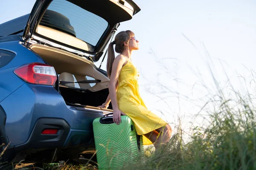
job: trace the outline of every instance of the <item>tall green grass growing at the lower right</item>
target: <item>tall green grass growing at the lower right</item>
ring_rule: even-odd
[[[231,107],[230,102],[223,101],[219,110],[210,115],[207,128],[195,127],[189,142],[180,141],[182,133],[176,133],[162,150],[147,150],[150,156],[144,156],[142,163],[124,169],[255,170],[255,109],[241,98],[236,107]]]

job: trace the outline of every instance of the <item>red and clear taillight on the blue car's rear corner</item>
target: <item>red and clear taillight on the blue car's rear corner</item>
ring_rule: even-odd
[[[57,80],[54,68],[39,62],[22,65],[14,73],[25,82],[36,85],[54,85]]]

